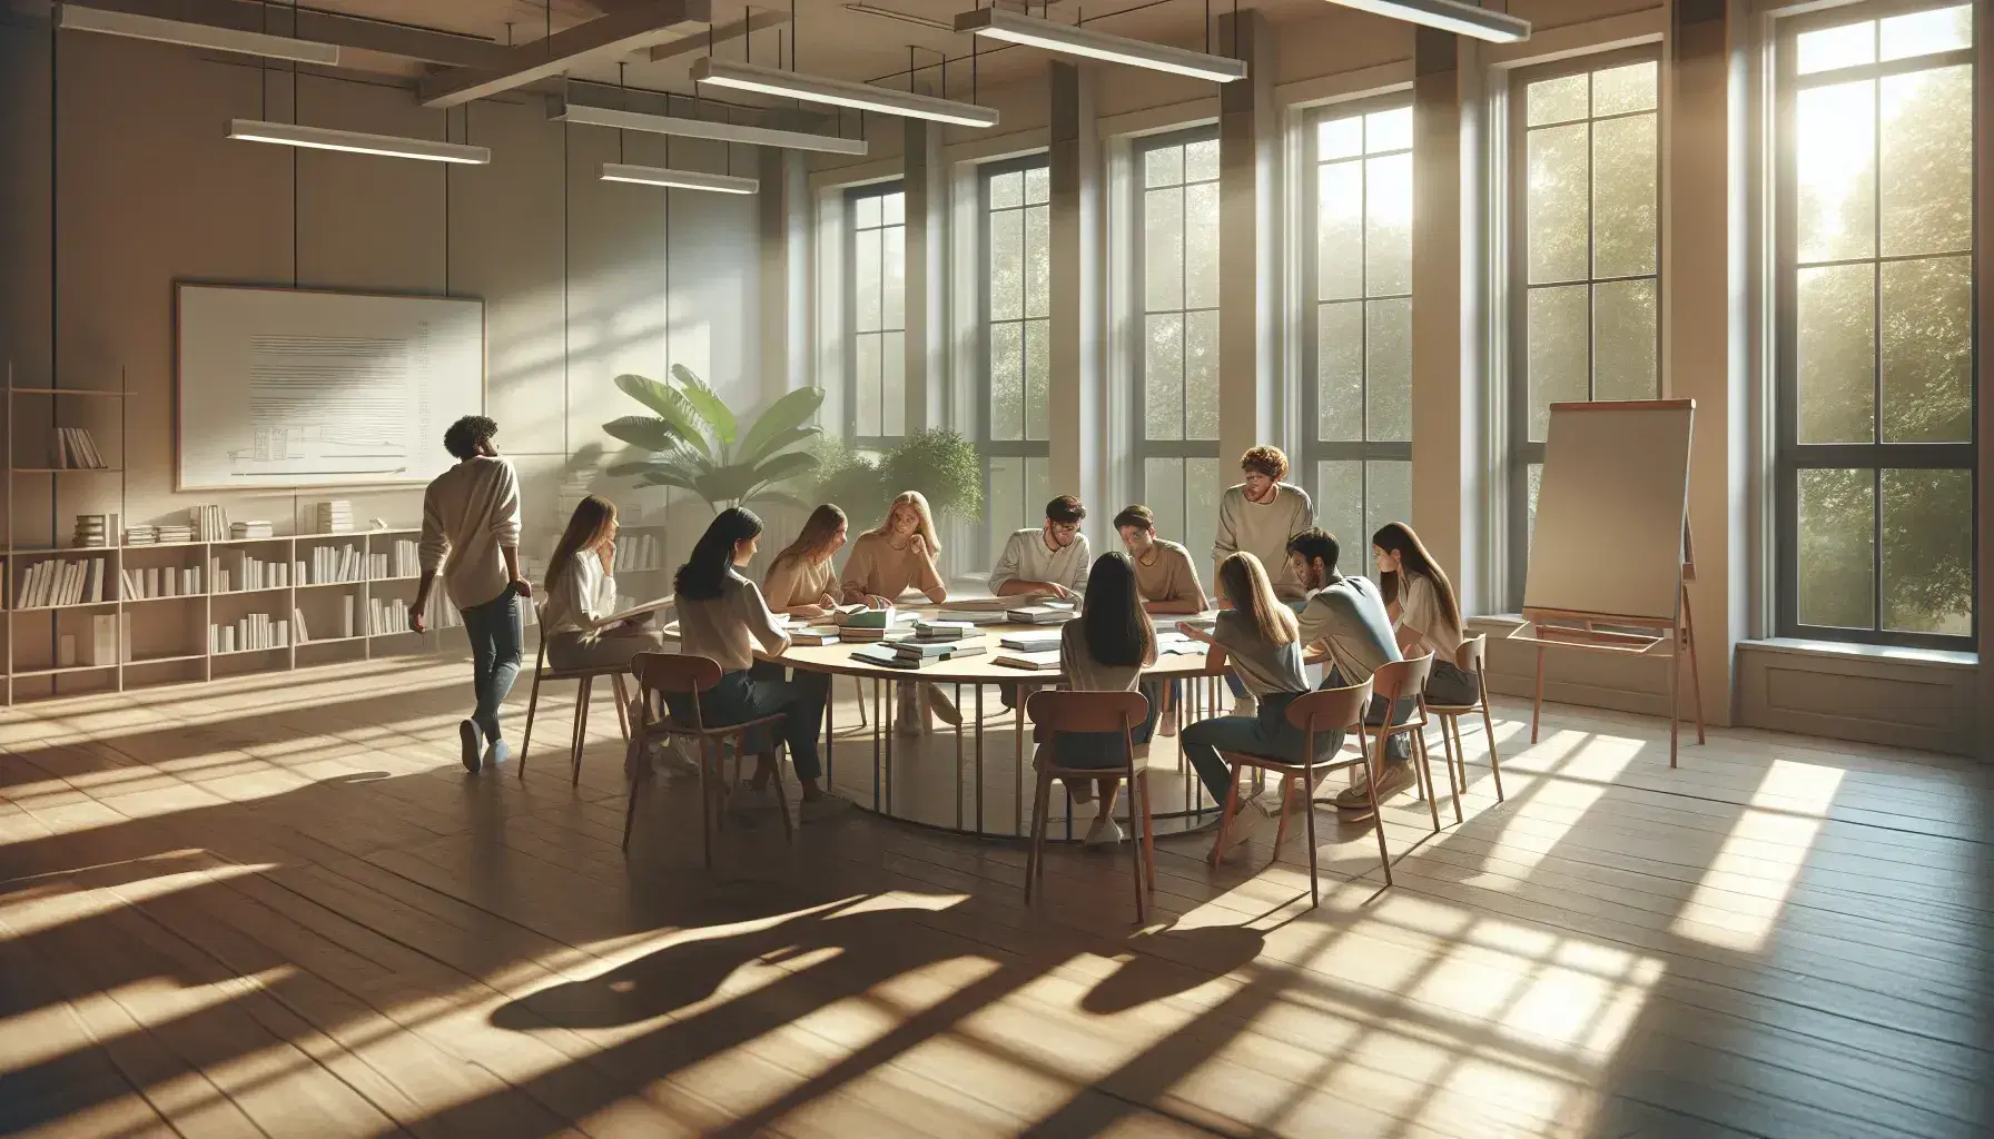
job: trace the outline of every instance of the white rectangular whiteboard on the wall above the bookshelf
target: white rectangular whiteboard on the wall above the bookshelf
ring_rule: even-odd
[[[485,301],[177,285],[175,489],[427,483],[485,411]]]

